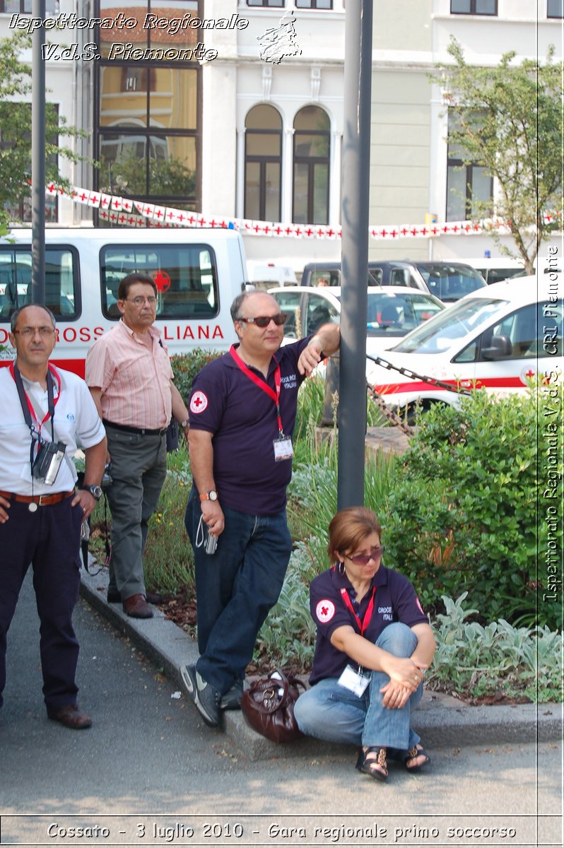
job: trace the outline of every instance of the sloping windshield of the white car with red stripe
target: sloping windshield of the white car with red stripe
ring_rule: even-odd
[[[465,338],[489,321],[507,303],[498,298],[464,298],[410,332],[393,350],[398,354],[440,354],[456,339]]]

